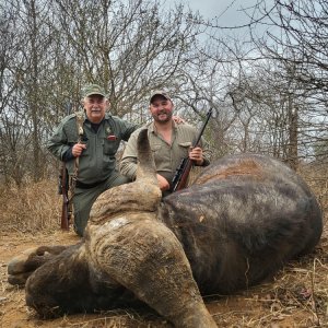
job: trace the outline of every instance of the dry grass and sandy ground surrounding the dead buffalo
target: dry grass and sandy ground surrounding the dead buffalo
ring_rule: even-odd
[[[316,194],[324,213],[328,213],[328,167],[304,166],[300,172]],[[172,327],[148,309],[119,309],[95,315],[66,316],[52,321],[39,321],[26,309],[23,291],[7,283],[5,261],[13,251],[32,244],[63,244],[68,236],[59,232],[60,210],[61,198],[57,195],[56,181],[40,181],[20,190],[14,186],[0,190],[0,251],[2,256],[7,254],[7,257],[0,260],[0,327]],[[218,326],[328,327],[326,222],[327,220],[321,241],[315,251],[291,261],[273,280],[235,295],[204,297]],[[13,236],[16,236],[15,241]],[[5,300],[1,301],[1,297]]]

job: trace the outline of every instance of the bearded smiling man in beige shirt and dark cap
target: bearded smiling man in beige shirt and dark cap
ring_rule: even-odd
[[[154,154],[159,186],[163,196],[169,194],[171,183],[184,157],[189,155],[197,166],[209,165],[202,151],[203,140],[199,147],[191,148],[198,130],[187,124],[175,124],[173,120],[174,104],[164,91],[156,91],[150,98],[150,112],[153,121],[136,130],[127,145],[120,162],[120,173],[130,179],[137,172],[137,139],[141,129],[148,129],[150,145]]]

